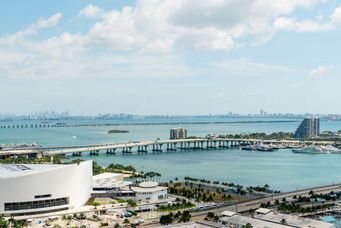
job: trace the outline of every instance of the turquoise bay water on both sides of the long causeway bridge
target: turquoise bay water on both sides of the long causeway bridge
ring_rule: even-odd
[[[1,143],[32,143],[44,146],[116,143],[128,140],[167,139],[172,127],[185,127],[189,135],[235,134],[248,132],[294,131],[298,122],[127,125],[115,127],[78,127],[45,129],[0,129]],[[107,134],[110,129],[129,130],[128,134]],[[321,130],[341,129],[341,121],[321,122]],[[341,183],[341,155],[295,154],[290,150],[273,153],[241,150],[212,150],[83,156],[105,166],[110,163],[130,164],[138,170],[158,171],[163,180],[184,176],[235,182],[243,185],[269,184],[278,190]]]

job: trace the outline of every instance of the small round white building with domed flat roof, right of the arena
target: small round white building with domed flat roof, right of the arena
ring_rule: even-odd
[[[167,198],[167,189],[152,181],[142,182],[138,187],[131,187],[136,194],[136,200],[143,202],[157,202]]]

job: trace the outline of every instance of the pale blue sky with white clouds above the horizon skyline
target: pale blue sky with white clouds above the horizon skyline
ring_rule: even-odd
[[[341,113],[340,0],[0,4],[0,113]]]

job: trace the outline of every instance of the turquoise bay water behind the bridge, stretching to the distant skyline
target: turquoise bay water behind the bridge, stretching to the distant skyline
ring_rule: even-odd
[[[240,119],[237,119],[240,120]],[[189,120],[186,120],[189,121]],[[221,121],[221,120],[220,120]],[[226,120],[224,120],[226,121]],[[227,119],[236,121],[236,119]],[[88,121],[87,123],[91,123]],[[84,123],[84,122],[82,122]],[[104,122],[104,123],[108,123]],[[11,123],[15,124],[15,123]],[[206,136],[207,134],[240,134],[250,132],[272,133],[278,131],[293,132],[299,122],[271,123],[225,123],[225,124],[167,124],[167,125],[126,125],[111,127],[71,127],[37,129],[0,129],[1,143],[38,143],[44,146],[88,145],[97,143],[127,142],[129,140],[154,140],[169,138],[169,129],[185,127],[188,135]],[[128,134],[107,134],[108,130],[129,130]],[[321,130],[337,131],[341,121],[325,121]]]

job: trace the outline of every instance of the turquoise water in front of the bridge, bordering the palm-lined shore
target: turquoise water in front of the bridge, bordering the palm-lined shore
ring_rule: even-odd
[[[100,165],[133,165],[140,171],[158,171],[163,180],[185,176],[243,185],[269,184],[286,191],[341,183],[341,155],[295,154],[291,150],[255,152],[238,149],[83,156]]]

